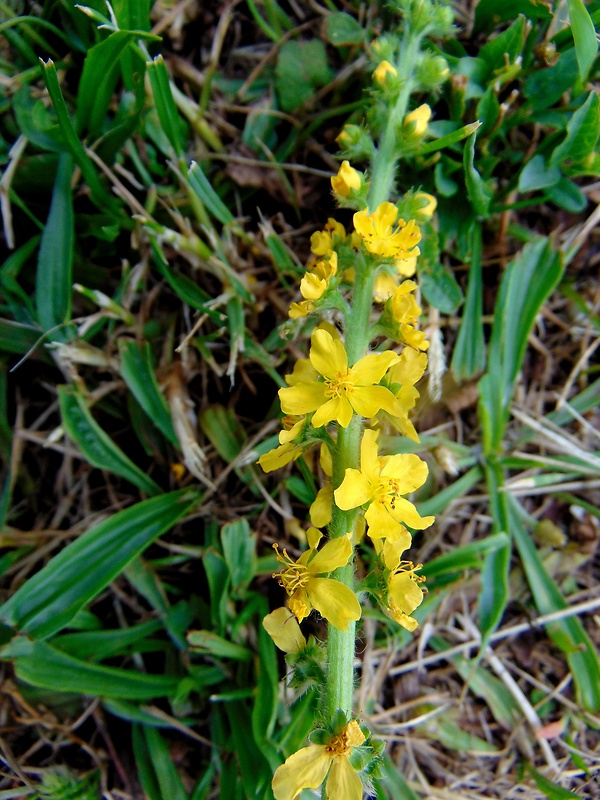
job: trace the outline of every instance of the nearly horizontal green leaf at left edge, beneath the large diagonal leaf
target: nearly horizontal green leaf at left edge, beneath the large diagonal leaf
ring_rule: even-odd
[[[174,695],[179,678],[88,664],[56,650],[47,642],[17,636],[0,651],[13,661],[17,678],[55,692],[76,692],[90,697],[152,700]]]

